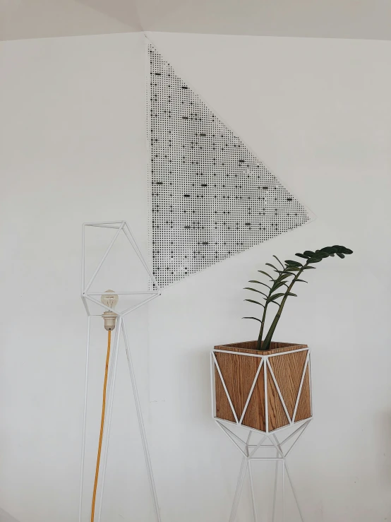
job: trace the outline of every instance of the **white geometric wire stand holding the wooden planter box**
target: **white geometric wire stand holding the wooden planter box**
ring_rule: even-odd
[[[218,348],[223,348],[219,346]],[[282,522],[287,521],[287,513],[286,513],[286,493],[287,493],[287,482],[291,487],[291,492],[294,497],[294,501],[296,503],[297,509],[299,511],[299,516],[301,522],[304,522],[303,511],[299,504],[299,498],[296,492],[296,488],[294,487],[294,482],[291,478],[291,473],[289,471],[287,465],[287,457],[289,453],[291,453],[294,446],[296,446],[301,436],[306,431],[308,426],[310,425],[313,419],[312,412],[312,397],[311,397],[311,360],[310,360],[310,348],[301,348],[299,350],[293,350],[291,352],[279,352],[273,353],[270,355],[255,355],[249,353],[239,353],[232,352],[223,349],[215,348],[210,353],[210,379],[211,379],[211,400],[212,400],[212,417],[215,420],[217,426],[221,431],[228,437],[232,444],[236,447],[236,449],[241,453],[241,468],[239,470],[239,477],[236,484],[236,490],[234,494],[234,500],[231,506],[231,514],[229,516],[229,522],[236,521],[236,515],[239,507],[239,502],[241,499],[241,494],[243,490],[243,484],[246,479],[246,475],[248,476],[248,480],[250,483],[251,490],[251,504],[253,511],[253,519],[254,522],[260,522],[260,516],[258,514],[257,502],[256,502],[256,494],[255,494],[255,486],[253,480],[253,465],[257,462],[275,462],[275,479],[274,479],[274,488],[273,488],[273,497],[272,497],[272,516],[271,521],[277,521],[277,501],[279,499],[279,520]],[[299,391],[297,393],[296,399],[294,401],[294,410],[293,413],[289,413],[289,408],[287,408],[286,401],[284,400],[284,396],[282,393],[281,386],[277,382],[277,378],[275,372],[273,371],[272,364],[270,364],[270,359],[272,357],[283,357],[287,355],[287,353],[295,353],[295,352],[303,352],[306,351],[306,358],[303,367],[303,371],[301,374]],[[219,353],[227,353],[230,355],[236,355],[239,357],[258,357],[259,363],[255,372],[255,376],[253,382],[251,384],[251,388],[249,389],[248,396],[246,398],[246,402],[244,404],[244,408],[242,411],[237,411],[237,406],[235,408],[234,399],[231,398],[229,393],[229,384],[224,380],[224,376],[222,374],[222,369],[219,367],[219,362],[217,357]],[[255,387],[257,386],[258,379],[260,376],[263,377],[262,388],[264,392],[264,401],[263,401],[263,414],[265,418],[265,429],[255,429],[250,426],[246,426],[246,411],[248,410],[248,406],[251,403],[251,398],[253,396]],[[309,387],[309,401],[311,407],[311,415],[308,415],[306,419],[296,420],[296,415],[298,413],[299,402],[301,400],[301,393],[303,391],[303,384],[305,378],[308,376],[308,387]],[[219,384],[224,388],[225,396],[227,397],[227,401],[229,403],[229,408],[231,409],[232,417],[234,421],[227,420],[224,418],[219,418],[216,415],[216,382],[219,379]],[[227,378],[226,378],[227,380]],[[270,412],[268,411],[269,406],[269,386],[268,382],[272,380],[275,385],[275,391],[277,391],[276,396],[278,396],[279,401],[281,401],[282,408],[284,409],[284,413],[287,416],[287,424],[279,427],[277,429],[272,429],[270,427]],[[281,383],[280,383],[281,384]],[[231,391],[232,393],[232,391]],[[240,433],[235,433],[240,428]],[[244,434],[244,437],[243,437]],[[272,452],[272,453],[270,453]],[[272,456],[270,456],[272,454]],[[279,473],[281,473],[281,480],[279,480]],[[279,488],[279,482],[280,488]],[[280,493],[279,491],[280,490]]]

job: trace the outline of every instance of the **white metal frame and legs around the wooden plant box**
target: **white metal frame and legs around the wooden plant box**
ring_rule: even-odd
[[[275,374],[274,374],[274,372],[272,370],[272,366],[271,366],[271,364],[269,362],[269,359],[270,359],[270,357],[278,357],[278,356],[281,356],[281,355],[285,355],[287,353],[291,354],[293,352],[301,352],[301,351],[305,351],[305,350],[307,351],[306,362],[305,362],[304,367],[303,367],[303,374],[301,376],[299,392],[298,392],[298,395],[296,397],[296,401],[295,401],[295,405],[294,405],[294,413],[290,417],[289,412],[287,410],[287,405],[285,404],[284,398],[282,397],[282,393],[281,393],[281,391],[279,389],[279,386],[277,384],[277,379],[275,378]],[[238,415],[238,413],[236,413],[234,405],[232,404],[232,401],[231,401],[231,397],[229,396],[229,392],[227,390],[227,386],[226,386],[226,384],[224,382],[224,378],[222,376],[222,372],[221,372],[221,370],[219,368],[219,364],[218,364],[216,356],[215,356],[216,352],[228,353],[228,354],[231,354],[231,355],[234,353],[234,355],[241,355],[241,356],[244,356],[244,357],[258,357],[260,359],[257,371],[255,373],[255,377],[253,379],[253,384],[251,385],[250,391],[248,393],[248,397],[246,399],[246,403],[245,403],[244,408],[243,408],[243,412],[241,412],[241,414],[239,413],[239,415]],[[236,519],[236,513],[237,513],[238,506],[239,506],[239,500],[241,498],[241,491],[242,491],[242,488],[243,488],[243,482],[244,482],[244,479],[246,477],[246,473],[248,474],[248,478],[249,478],[249,481],[250,481],[251,502],[252,502],[252,507],[253,507],[253,518],[254,518],[254,522],[258,522],[258,512],[257,512],[257,507],[256,507],[256,502],[255,502],[255,489],[254,489],[254,484],[253,484],[253,470],[252,470],[252,467],[251,467],[252,466],[251,463],[253,463],[255,461],[264,461],[264,462],[265,461],[269,461],[269,462],[270,461],[275,461],[275,463],[276,463],[276,465],[275,465],[275,484],[274,484],[273,505],[272,505],[272,522],[275,522],[275,516],[276,516],[279,465],[282,466],[282,522],[285,522],[285,492],[286,492],[286,485],[287,485],[286,477],[287,477],[287,479],[289,481],[289,484],[291,485],[291,490],[292,490],[292,493],[294,495],[296,506],[297,506],[297,508],[299,510],[299,515],[300,515],[300,518],[301,518],[301,522],[304,522],[303,512],[301,511],[301,507],[299,505],[299,500],[298,500],[298,497],[297,497],[297,494],[296,494],[296,490],[295,490],[294,484],[293,484],[293,482],[291,480],[291,475],[290,475],[288,467],[287,467],[286,458],[289,455],[289,453],[291,452],[291,450],[294,448],[294,446],[296,446],[297,441],[301,438],[302,434],[306,431],[308,425],[311,423],[311,420],[313,419],[312,395],[311,395],[311,366],[310,366],[311,362],[310,362],[310,352],[311,352],[310,348],[300,348],[298,350],[291,350],[289,352],[279,352],[279,353],[270,354],[270,355],[256,355],[256,354],[248,354],[248,353],[245,353],[245,352],[232,352],[232,351],[229,351],[229,350],[218,350],[218,349],[212,350],[212,352],[210,353],[210,380],[211,380],[211,393],[212,393],[212,396],[211,396],[211,398],[212,398],[212,417],[213,417],[213,420],[215,420],[215,422],[216,422],[217,426],[219,427],[219,429],[221,429],[222,432],[229,438],[229,440],[234,444],[236,449],[238,449],[240,451],[241,456],[242,456],[241,468],[240,468],[240,471],[239,471],[239,477],[238,477],[238,482],[237,482],[237,485],[236,485],[234,501],[233,501],[232,507],[231,507],[231,514],[229,516],[229,522],[234,522],[235,519]],[[297,407],[299,405],[299,399],[300,399],[300,396],[301,396],[301,390],[303,388],[303,381],[304,381],[304,377],[306,375],[307,368],[308,368],[308,373],[309,373],[309,377],[310,377],[311,416],[308,417],[307,419],[296,421],[295,419],[296,419]],[[222,382],[222,386],[224,388],[224,392],[226,393],[226,396],[227,396],[227,399],[228,399],[229,406],[231,408],[232,414],[234,415],[235,422],[216,417],[215,369],[217,370],[217,375],[219,376],[219,379]],[[246,410],[248,408],[248,403],[250,402],[251,396],[253,394],[253,390],[255,388],[256,381],[257,381],[258,376],[259,376],[259,374],[260,374],[260,372],[262,370],[263,370],[263,376],[264,376],[264,382],[265,382],[265,420],[266,420],[266,422],[265,422],[265,426],[266,426],[265,431],[260,430],[260,429],[255,429],[255,428],[252,428],[252,427],[248,427],[248,426],[242,424],[243,417],[244,417],[244,415],[246,413]],[[269,430],[268,411],[267,411],[267,405],[268,405],[268,400],[267,400],[267,372],[270,372],[270,375],[272,376],[272,380],[273,380],[273,382],[275,384],[275,387],[277,389],[277,393],[278,393],[279,399],[282,402],[282,405],[283,405],[283,408],[284,408],[284,412],[287,415],[287,419],[289,421],[288,425],[285,425],[285,426],[280,427],[278,429],[273,429],[271,431]],[[246,432],[247,432],[246,439],[242,439],[241,437],[239,437],[239,435],[237,435],[236,433],[231,431],[230,428],[232,426],[235,426],[235,425],[246,430]],[[289,434],[283,440],[279,440],[279,438],[278,438],[279,435],[283,434],[284,431],[286,431],[287,429],[291,428],[294,425],[297,425],[297,427],[294,430],[294,432]],[[255,435],[257,433],[260,434],[260,440],[256,444],[250,444],[251,443],[251,437],[253,437],[253,435]],[[295,439],[295,437],[296,437],[296,439]],[[284,450],[283,449],[284,444],[287,444],[287,442],[291,441],[292,439],[294,439],[293,444],[291,444],[289,449]],[[263,449],[268,449],[269,451],[270,451],[270,449],[275,449],[276,450],[275,457],[259,456],[259,454],[258,454],[259,451],[262,451]]]

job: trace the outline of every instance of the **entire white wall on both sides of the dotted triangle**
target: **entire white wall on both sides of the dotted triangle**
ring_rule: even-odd
[[[145,413],[163,520],[228,518],[240,456],[210,418],[208,352],[255,336],[240,319],[248,311],[241,288],[272,254],[289,259],[335,243],[354,256],[311,273],[277,331],[277,340],[313,348],[315,419],[291,454],[291,471],[308,521],[390,518],[390,44],[150,38],[318,216],[165,290],[150,306],[148,328],[146,309],[133,321],[144,405],[149,379]],[[0,505],[21,522],[76,520],[80,224],[126,218],[145,247],[143,74],[141,35],[1,48]],[[42,302],[49,303],[44,312]],[[103,338],[96,350],[98,390]],[[104,516],[152,522],[120,368]],[[91,443],[99,402],[97,395]],[[250,520],[245,504],[239,522]]]

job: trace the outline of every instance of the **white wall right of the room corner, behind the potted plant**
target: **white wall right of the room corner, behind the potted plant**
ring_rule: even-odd
[[[311,272],[276,332],[313,348],[315,419],[291,470],[308,521],[390,518],[390,42],[149,36],[318,216],[150,307],[152,434],[171,477],[159,470],[164,509],[175,506],[167,519],[229,518],[241,457],[208,418],[207,352],[255,338],[255,321],[241,321],[254,312],[241,288],[272,254],[290,259],[328,244],[354,256]],[[239,521],[248,520],[242,510]]]

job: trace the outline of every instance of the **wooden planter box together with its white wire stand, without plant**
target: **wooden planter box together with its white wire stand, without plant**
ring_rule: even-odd
[[[268,519],[288,522],[289,483],[304,522],[287,456],[312,420],[311,350],[306,345],[273,343],[274,349],[261,352],[255,350],[255,341],[238,344],[216,346],[210,354],[212,417],[242,456],[229,522],[236,521],[246,476],[254,522],[259,521],[253,466],[270,461],[275,463],[275,480]]]

